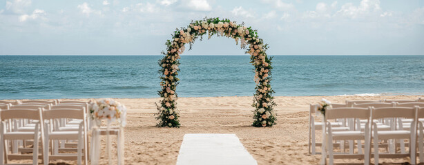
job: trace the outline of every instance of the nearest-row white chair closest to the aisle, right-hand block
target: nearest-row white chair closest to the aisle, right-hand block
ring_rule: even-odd
[[[334,164],[334,159],[358,159],[363,158],[364,164],[369,164],[369,121],[365,125],[365,131],[360,130],[349,130],[349,131],[333,131],[331,128],[331,122],[329,120],[336,120],[338,118],[354,118],[369,120],[369,108],[334,108],[327,109],[325,112],[325,133],[327,138],[327,153],[329,157],[329,164]],[[365,154],[361,154],[362,147],[358,148],[358,153],[334,153],[334,140],[365,140]],[[359,144],[359,143],[358,143]]]

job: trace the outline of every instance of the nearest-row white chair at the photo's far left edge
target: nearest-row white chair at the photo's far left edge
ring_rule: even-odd
[[[32,159],[32,164],[38,164],[39,159],[39,140],[41,140],[41,160],[43,160],[44,153],[44,126],[40,122],[35,123],[35,129],[33,132],[22,132],[22,131],[8,131],[6,129],[6,121],[13,119],[30,119],[42,121],[42,111],[28,110],[28,109],[14,109],[14,110],[3,110],[0,111],[1,124],[0,124],[0,163],[8,163],[8,159]],[[34,140],[32,155],[21,155],[21,154],[9,154],[8,152],[8,140]]]

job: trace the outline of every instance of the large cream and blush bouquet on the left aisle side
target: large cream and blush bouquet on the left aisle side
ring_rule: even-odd
[[[108,120],[108,124],[118,120],[121,126],[126,125],[126,107],[113,99],[106,98],[92,101],[88,107],[90,117],[99,126],[102,120]]]

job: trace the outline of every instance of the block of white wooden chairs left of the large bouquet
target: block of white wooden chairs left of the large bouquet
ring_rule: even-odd
[[[32,159],[33,164],[38,159],[44,164],[66,159],[81,164],[83,158],[88,164],[88,102],[0,101],[0,109],[0,164],[10,159]],[[26,148],[30,144],[32,148]]]

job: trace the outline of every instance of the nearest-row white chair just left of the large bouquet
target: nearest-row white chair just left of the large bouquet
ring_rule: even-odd
[[[80,119],[83,122],[79,124],[78,131],[57,131],[53,129],[46,128],[45,136],[46,136],[46,148],[49,148],[49,140],[78,140],[77,144],[77,154],[60,154],[60,153],[48,153],[48,150],[44,152],[44,164],[48,164],[49,159],[70,159],[75,160],[77,158],[77,164],[81,164],[81,159],[84,156],[84,163],[88,164],[88,154],[87,154],[87,125],[86,125],[86,111],[81,111],[80,109],[56,109],[50,111],[44,111],[44,120],[55,120],[61,118],[74,118]],[[51,123],[55,124],[55,122]],[[55,128],[54,125],[51,125]],[[46,127],[49,126],[46,123]],[[84,151],[84,155],[82,152]]]

